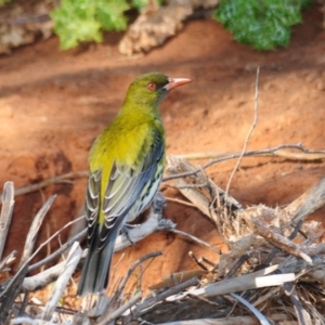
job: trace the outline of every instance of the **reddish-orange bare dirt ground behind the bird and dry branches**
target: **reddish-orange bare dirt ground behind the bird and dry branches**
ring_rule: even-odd
[[[88,151],[117,114],[129,83],[151,70],[193,79],[161,104],[168,155],[239,151],[253,119],[258,66],[259,120],[248,148],[301,142],[309,148],[324,150],[325,31],[321,26],[322,13],[312,5],[303,14],[303,24],[294,28],[290,46],[268,53],[235,42],[219,23],[205,20],[187,22],[167,44],[138,58],[118,54],[120,34],[107,34],[103,44],[67,52],[60,52],[58,41],[52,37],[2,56],[0,184],[14,181],[20,188],[87,170]],[[234,161],[227,161],[207,172],[224,187],[233,166]],[[231,194],[244,205],[286,205],[324,172],[325,162],[320,161],[247,158],[233,180]],[[31,220],[51,194],[57,197],[38,245],[74,219],[82,206],[84,187],[86,179],[81,179],[16,197],[4,253],[13,249],[22,252]],[[176,190],[165,194],[182,198]],[[324,211],[313,218],[322,220]],[[199,211],[169,203],[165,218],[177,222],[178,229],[223,247],[212,222]],[[63,242],[66,235],[62,235]],[[57,246],[54,240],[51,249]],[[127,249],[118,274],[145,252],[158,249],[164,257],[151,264],[143,286],[193,268],[188,250],[217,259],[180,236],[159,233]],[[47,253],[44,249],[39,259]]]

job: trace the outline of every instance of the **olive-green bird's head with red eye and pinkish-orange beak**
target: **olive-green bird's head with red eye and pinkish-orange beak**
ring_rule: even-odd
[[[127,100],[138,105],[156,107],[171,89],[191,81],[186,78],[169,78],[159,73],[148,73],[130,84]]]

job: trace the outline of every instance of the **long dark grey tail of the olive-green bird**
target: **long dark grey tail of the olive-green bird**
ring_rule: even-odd
[[[108,284],[109,266],[118,232],[113,232],[103,249],[99,250],[100,235],[93,236],[82,268],[77,295],[102,292]]]

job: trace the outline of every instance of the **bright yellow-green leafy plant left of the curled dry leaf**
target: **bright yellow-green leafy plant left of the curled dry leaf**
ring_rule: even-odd
[[[133,2],[143,3],[144,0]],[[61,48],[70,49],[79,42],[101,42],[103,30],[125,30],[127,18],[123,12],[129,8],[126,0],[62,0],[61,6],[51,13]]]

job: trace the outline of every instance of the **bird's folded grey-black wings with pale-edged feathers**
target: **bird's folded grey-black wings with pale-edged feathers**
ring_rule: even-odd
[[[105,246],[109,234],[120,227],[143,187],[155,174],[162,155],[164,140],[160,133],[156,132],[150,150],[136,169],[114,161],[102,204],[100,203],[102,171],[96,170],[90,173],[86,199],[89,243],[96,233],[95,229],[101,209],[105,216],[105,223],[100,233],[98,248],[102,249]]]

